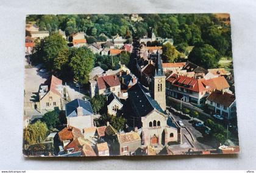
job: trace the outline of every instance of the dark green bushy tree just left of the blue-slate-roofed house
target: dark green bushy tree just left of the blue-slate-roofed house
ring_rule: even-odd
[[[55,110],[52,110],[51,112],[44,114],[41,121],[46,124],[48,129],[52,129],[57,124],[60,124],[59,114]]]

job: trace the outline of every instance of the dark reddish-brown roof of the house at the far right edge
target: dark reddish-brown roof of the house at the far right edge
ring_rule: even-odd
[[[207,97],[207,100],[229,107],[235,101],[235,95],[215,90]]]

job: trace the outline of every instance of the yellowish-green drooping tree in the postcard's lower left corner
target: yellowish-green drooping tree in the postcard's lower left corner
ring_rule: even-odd
[[[36,121],[34,124],[29,124],[23,131],[24,144],[41,143],[48,133],[48,128],[45,123]]]

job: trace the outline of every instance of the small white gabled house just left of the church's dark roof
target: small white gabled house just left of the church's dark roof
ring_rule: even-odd
[[[107,96],[107,112],[110,115],[116,115],[118,110],[122,109],[123,104],[120,99],[115,95],[115,93],[110,93]]]

